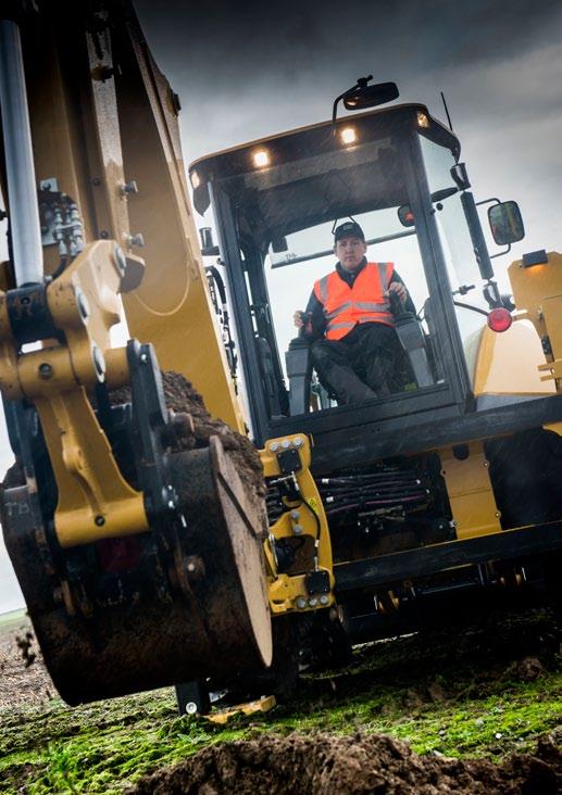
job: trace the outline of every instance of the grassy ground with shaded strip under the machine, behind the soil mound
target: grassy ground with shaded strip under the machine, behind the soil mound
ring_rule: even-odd
[[[386,733],[419,753],[499,760],[530,749],[561,718],[560,641],[535,610],[362,646],[342,669],[307,673],[290,704],[222,728],[178,718],[170,689],[75,708],[4,707],[0,791],[118,793],[207,745],[294,730]]]

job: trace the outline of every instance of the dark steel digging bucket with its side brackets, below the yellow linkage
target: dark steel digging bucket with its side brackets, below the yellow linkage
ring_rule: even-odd
[[[149,382],[142,394],[150,394]],[[113,413],[122,408],[128,407]],[[158,412],[148,408],[138,412],[154,422]],[[33,432],[22,439],[39,441]],[[242,483],[218,436],[153,463],[164,465],[167,502],[148,512],[148,532],[68,548],[40,521],[35,482],[45,510],[47,463],[36,466],[35,482],[28,468],[25,478],[14,469],[4,481],[5,545],[47,667],[68,704],[227,678],[271,661],[263,503]],[[153,492],[145,494],[153,504]]]

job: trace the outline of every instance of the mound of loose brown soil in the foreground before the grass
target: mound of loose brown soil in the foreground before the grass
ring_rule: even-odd
[[[438,795],[522,793],[554,795],[562,783],[561,754],[553,736],[535,755],[503,765],[419,756],[383,735],[263,735],[204,748],[186,761],[147,775],[128,795]]]

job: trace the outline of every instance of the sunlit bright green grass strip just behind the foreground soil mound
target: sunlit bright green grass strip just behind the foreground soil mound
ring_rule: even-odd
[[[412,709],[409,698],[408,689],[374,689],[345,702],[326,695],[267,715],[237,717],[225,728],[178,718],[168,690],[73,709],[57,702],[2,720],[0,780],[3,792],[16,792],[25,782],[27,792],[41,795],[117,793],[142,773],[205,745],[262,731],[359,730],[405,740],[419,753],[499,759],[530,748],[538,735],[560,723],[562,672],[514,683],[483,699],[421,703]]]

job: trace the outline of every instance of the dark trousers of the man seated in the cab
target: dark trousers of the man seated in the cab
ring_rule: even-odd
[[[401,389],[395,374],[403,350],[391,326],[358,324],[341,340],[313,342],[311,354],[321,382],[339,404],[385,398]]]

